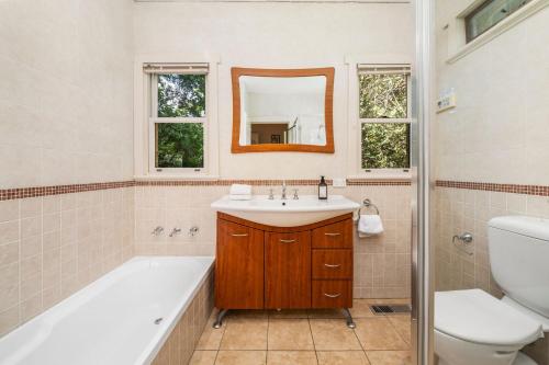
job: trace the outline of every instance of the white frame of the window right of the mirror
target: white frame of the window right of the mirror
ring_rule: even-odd
[[[383,55],[377,58],[365,57],[355,59],[347,56],[346,64],[348,65],[348,115],[349,115],[349,144],[348,144],[348,176],[350,179],[372,179],[372,180],[410,180],[411,168],[407,169],[362,169],[362,133],[361,127],[365,123],[407,123],[412,126],[414,118],[412,117],[412,56],[406,55]],[[379,69],[403,69],[408,68],[410,75],[407,78],[407,117],[406,118],[361,118],[359,111],[359,70],[365,67]],[[380,72],[384,73],[384,72]],[[389,72],[386,72],[389,73]],[[412,140],[408,144],[408,156],[412,153]]]

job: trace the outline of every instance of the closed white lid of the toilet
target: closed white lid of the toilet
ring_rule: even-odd
[[[481,289],[435,293],[435,329],[494,345],[524,345],[544,337],[541,323]]]

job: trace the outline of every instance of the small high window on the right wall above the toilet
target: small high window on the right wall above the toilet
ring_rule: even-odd
[[[467,43],[490,30],[531,0],[488,0],[466,18]]]

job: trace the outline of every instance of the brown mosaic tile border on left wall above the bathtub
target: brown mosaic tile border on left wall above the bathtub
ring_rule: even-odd
[[[70,193],[91,192],[97,190],[120,189],[135,186],[135,181],[116,181],[90,184],[18,187],[0,190],[0,201],[21,199],[25,197],[37,197],[47,195],[60,195]]]

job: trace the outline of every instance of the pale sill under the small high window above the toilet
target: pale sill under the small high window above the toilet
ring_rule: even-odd
[[[466,57],[470,53],[474,52],[475,49],[482,47],[490,41],[494,39],[498,35],[507,32],[515,25],[519,24],[524,20],[530,18],[538,11],[542,10],[549,5],[549,0],[535,0],[528,4],[526,4],[523,9],[517,10],[515,13],[512,15],[507,16],[496,25],[494,25],[492,28],[486,31],[484,34],[480,35],[475,39],[471,41],[470,43],[466,44],[463,47],[461,47],[453,56],[448,58],[446,60],[447,64],[455,64],[459,59]]]

